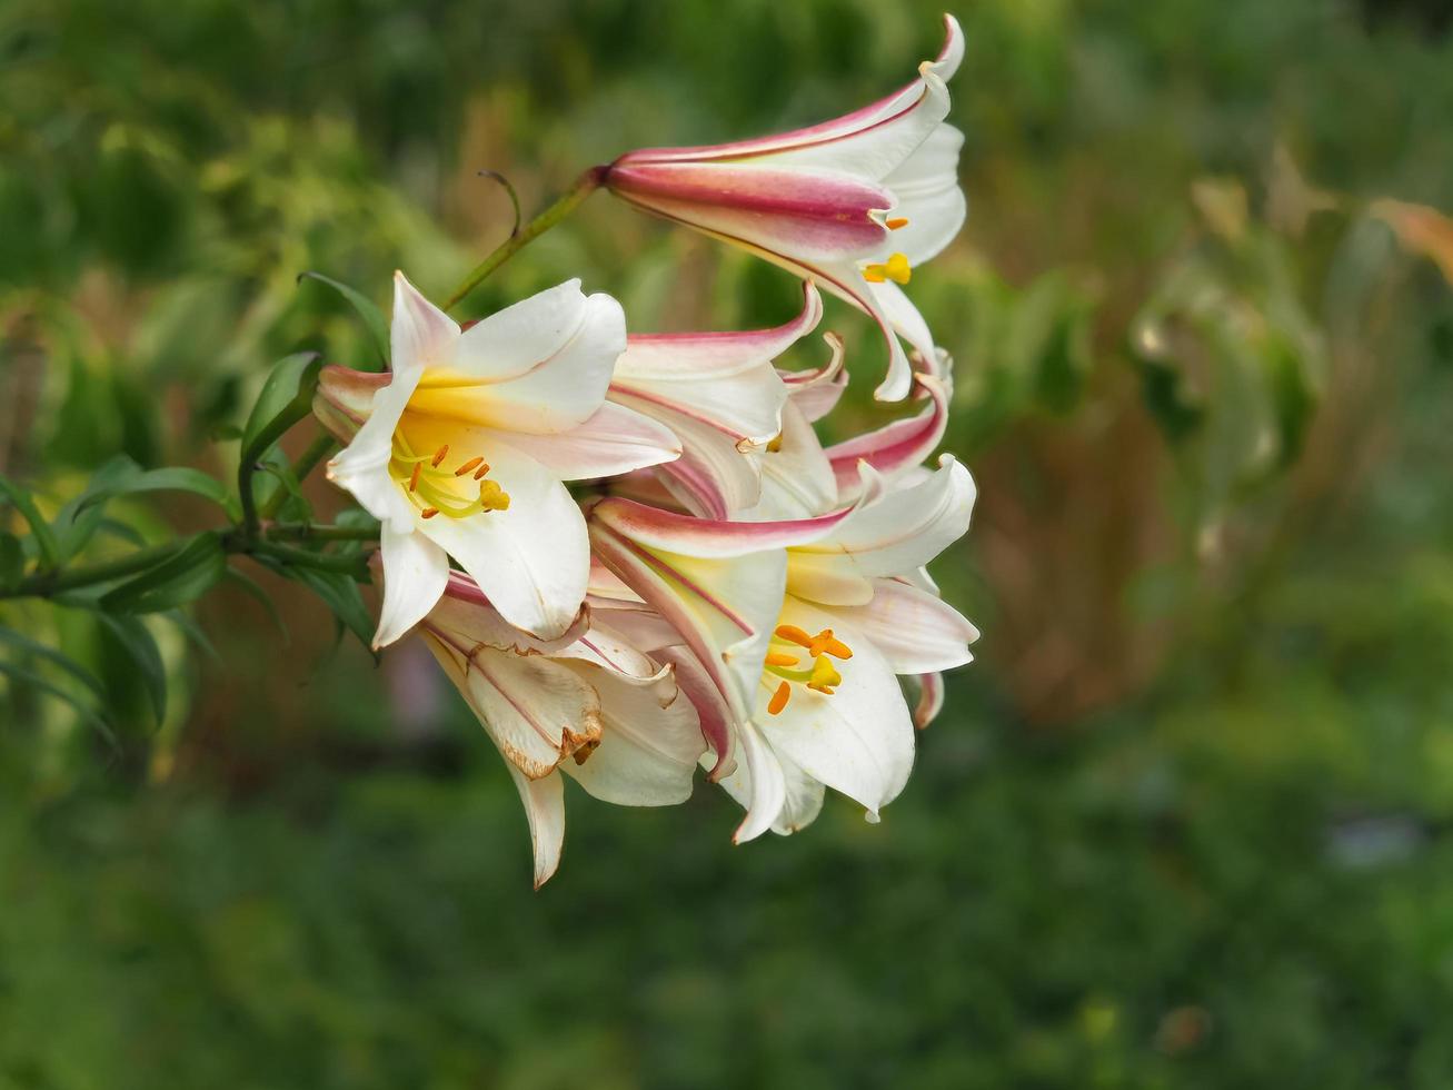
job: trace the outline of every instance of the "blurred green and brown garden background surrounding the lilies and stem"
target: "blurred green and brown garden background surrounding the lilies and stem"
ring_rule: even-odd
[[[158,728],[105,634],[4,603],[122,738],[0,690],[0,1087],[1453,1086],[1453,13],[959,16],[971,218],[912,289],[981,493],[937,574],[985,637],[882,825],[734,849],[713,789],[572,791],[535,894],[418,648],[222,589],[215,657],[157,622]],[[225,474],[272,359],[366,352],[299,272],[440,296],[509,231],[481,169],[538,208],[937,44],[867,0],[7,0],[0,471],[52,510],[118,452]],[[636,330],[798,298],[596,196],[466,310],[574,275]],[[872,330],[827,327],[840,426],[889,419]]]

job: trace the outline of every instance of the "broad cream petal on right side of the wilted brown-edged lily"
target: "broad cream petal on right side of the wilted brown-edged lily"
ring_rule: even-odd
[[[706,748],[696,709],[670,669],[638,680],[588,663],[571,669],[600,695],[600,746],[561,770],[590,795],[620,807],[670,807],[692,796]],[[577,754],[578,757],[580,754]]]

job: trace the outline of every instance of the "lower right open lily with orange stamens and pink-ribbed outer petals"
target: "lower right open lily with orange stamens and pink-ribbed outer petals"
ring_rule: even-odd
[[[677,629],[731,711],[740,760],[722,783],[747,808],[738,841],[806,825],[825,786],[876,821],[912,766],[897,674],[971,660],[978,631],[914,586],[968,529],[968,471],[946,455],[907,487],[863,474],[857,504],[804,519],[590,509],[597,558]]]

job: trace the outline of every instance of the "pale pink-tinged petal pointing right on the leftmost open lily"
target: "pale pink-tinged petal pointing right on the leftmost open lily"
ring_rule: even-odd
[[[562,481],[615,477],[681,456],[680,440],[668,427],[609,401],[568,432],[510,432],[501,437]]]

